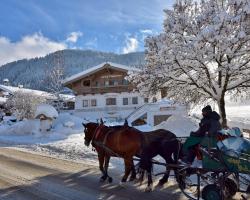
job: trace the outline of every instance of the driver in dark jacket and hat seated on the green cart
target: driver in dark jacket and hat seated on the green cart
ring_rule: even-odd
[[[195,132],[192,131],[183,144],[184,156],[182,161],[187,164],[193,163],[197,148],[204,136],[215,137],[217,132],[221,130],[220,115],[213,111],[210,105],[202,109],[202,116],[199,129]]]

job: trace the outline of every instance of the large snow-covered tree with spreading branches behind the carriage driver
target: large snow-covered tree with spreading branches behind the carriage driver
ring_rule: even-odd
[[[225,95],[250,88],[250,1],[177,0],[165,14],[163,33],[146,39],[146,67],[129,79],[144,93],[212,99],[226,126]]]

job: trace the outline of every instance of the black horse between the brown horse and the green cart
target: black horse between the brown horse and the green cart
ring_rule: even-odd
[[[177,164],[179,154],[181,151],[181,144],[176,138],[176,135],[167,130],[161,130],[164,133],[162,138],[154,138],[152,135],[144,134],[144,140],[148,141],[142,148],[139,161],[139,181],[143,181],[144,171],[147,171],[148,183],[145,189],[146,192],[152,191],[152,158],[160,155],[166,162],[166,164]],[[172,158],[173,156],[173,158]],[[175,171],[175,176],[177,177],[177,172]],[[163,186],[164,183],[168,181],[170,174],[170,169],[166,166],[166,172],[159,180],[158,186]]]

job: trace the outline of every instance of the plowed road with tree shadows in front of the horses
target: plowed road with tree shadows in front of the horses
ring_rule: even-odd
[[[121,187],[121,174],[111,169],[110,175],[114,183],[99,183],[95,166],[0,148],[1,200],[186,199],[171,183],[167,189],[145,193],[145,185]]]

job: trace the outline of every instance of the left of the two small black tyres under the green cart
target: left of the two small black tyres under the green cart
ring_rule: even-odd
[[[221,192],[217,185],[206,185],[202,190],[202,198],[204,200],[221,200]]]

